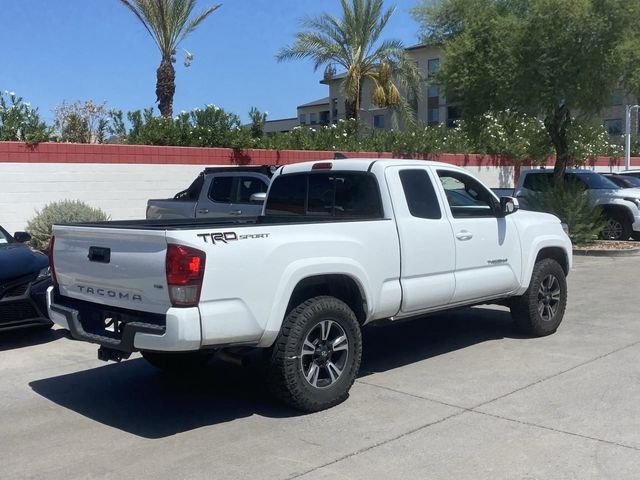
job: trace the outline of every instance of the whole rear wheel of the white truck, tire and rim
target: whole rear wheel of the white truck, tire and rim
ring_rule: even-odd
[[[271,350],[269,381],[294,408],[316,412],[343,402],[362,356],[360,325],[334,297],[315,297],[285,318]]]

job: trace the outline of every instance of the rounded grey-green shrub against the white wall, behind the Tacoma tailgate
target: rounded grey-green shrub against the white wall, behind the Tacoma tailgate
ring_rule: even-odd
[[[36,212],[27,223],[31,234],[30,245],[47,253],[51,239],[51,227],[56,223],[98,222],[109,220],[109,216],[99,208],[93,208],[79,200],[52,202]]]

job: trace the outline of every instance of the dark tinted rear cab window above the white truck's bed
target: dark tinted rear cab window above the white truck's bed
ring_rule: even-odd
[[[382,218],[376,178],[368,172],[304,172],[277,177],[266,215]]]

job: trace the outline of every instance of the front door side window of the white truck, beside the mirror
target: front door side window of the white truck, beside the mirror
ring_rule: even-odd
[[[450,170],[438,170],[438,177],[455,218],[496,216],[494,196],[475,178]]]

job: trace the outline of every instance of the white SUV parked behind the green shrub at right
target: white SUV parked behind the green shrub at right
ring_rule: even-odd
[[[527,197],[540,192],[553,178],[550,170],[527,170],[521,173],[515,196],[523,208],[527,208]],[[628,240],[640,239],[640,189],[620,188],[599,173],[584,169],[569,169],[566,182],[577,182],[583,186],[595,205],[602,207],[607,225],[602,238]]]

